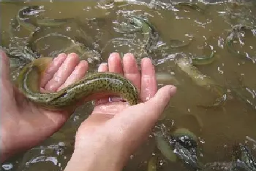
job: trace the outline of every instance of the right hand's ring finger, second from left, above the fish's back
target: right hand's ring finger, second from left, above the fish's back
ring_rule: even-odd
[[[120,55],[116,52],[108,57],[108,70],[113,73],[124,74]]]

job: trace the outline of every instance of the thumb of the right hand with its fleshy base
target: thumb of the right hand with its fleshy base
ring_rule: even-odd
[[[174,86],[167,85],[162,87],[154,95],[154,98],[151,98],[145,103],[124,109],[121,114],[114,117],[112,122],[114,122],[113,124],[117,124],[115,127],[126,127],[127,131],[131,131],[132,133],[137,129],[150,130],[151,127],[154,127],[154,124],[169,103],[170,98],[175,93],[176,87]]]

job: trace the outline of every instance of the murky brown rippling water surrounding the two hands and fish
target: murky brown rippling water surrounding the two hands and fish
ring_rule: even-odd
[[[28,25],[19,25],[15,20],[20,9],[31,5],[42,9],[37,17],[29,16],[34,17],[33,21],[47,17],[72,20],[58,27],[44,27],[31,36]],[[230,162],[233,146],[238,143],[246,145],[256,157],[256,5],[252,1],[206,1],[197,2],[197,7],[165,1],[1,2],[1,47],[12,53],[12,79],[17,76],[18,65],[40,56],[54,57],[67,49],[89,60],[91,72],[96,71],[100,63],[107,62],[110,52],[132,52],[138,62],[142,57],[150,57],[158,74],[158,86],[175,84],[178,87],[154,132],[188,129],[198,138],[197,160],[208,164],[210,170],[225,170],[214,167],[214,162],[215,165]],[[126,17],[132,15],[148,20],[154,34],[141,33],[138,25],[125,25]],[[246,30],[234,28],[239,24],[245,25]],[[75,47],[69,38],[99,52],[99,58],[94,51],[84,54],[84,49]],[[144,41],[148,46],[143,46]],[[25,48],[28,42],[32,51]],[[210,57],[212,52],[213,58]],[[202,58],[196,58],[203,56],[208,57],[203,62]],[[196,68],[188,74],[177,64],[182,57],[198,60],[201,65],[193,66]],[[195,70],[201,74],[193,74]],[[198,76],[208,76],[211,80],[202,81]],[[219,98],[219,91],[207,88],[210,81],[222,87],[225,103],[203,108]],[[75,132],[92,108],[91,102],[80,106],[59,132],[5,162],[1,170],[64,170],[72,155]],[[182,162],[168,160],[157,148],[154,132],[131,156],[124,170],[148,170],[152,156],[158,156],[155,163],[158,171],[192,170]]]

